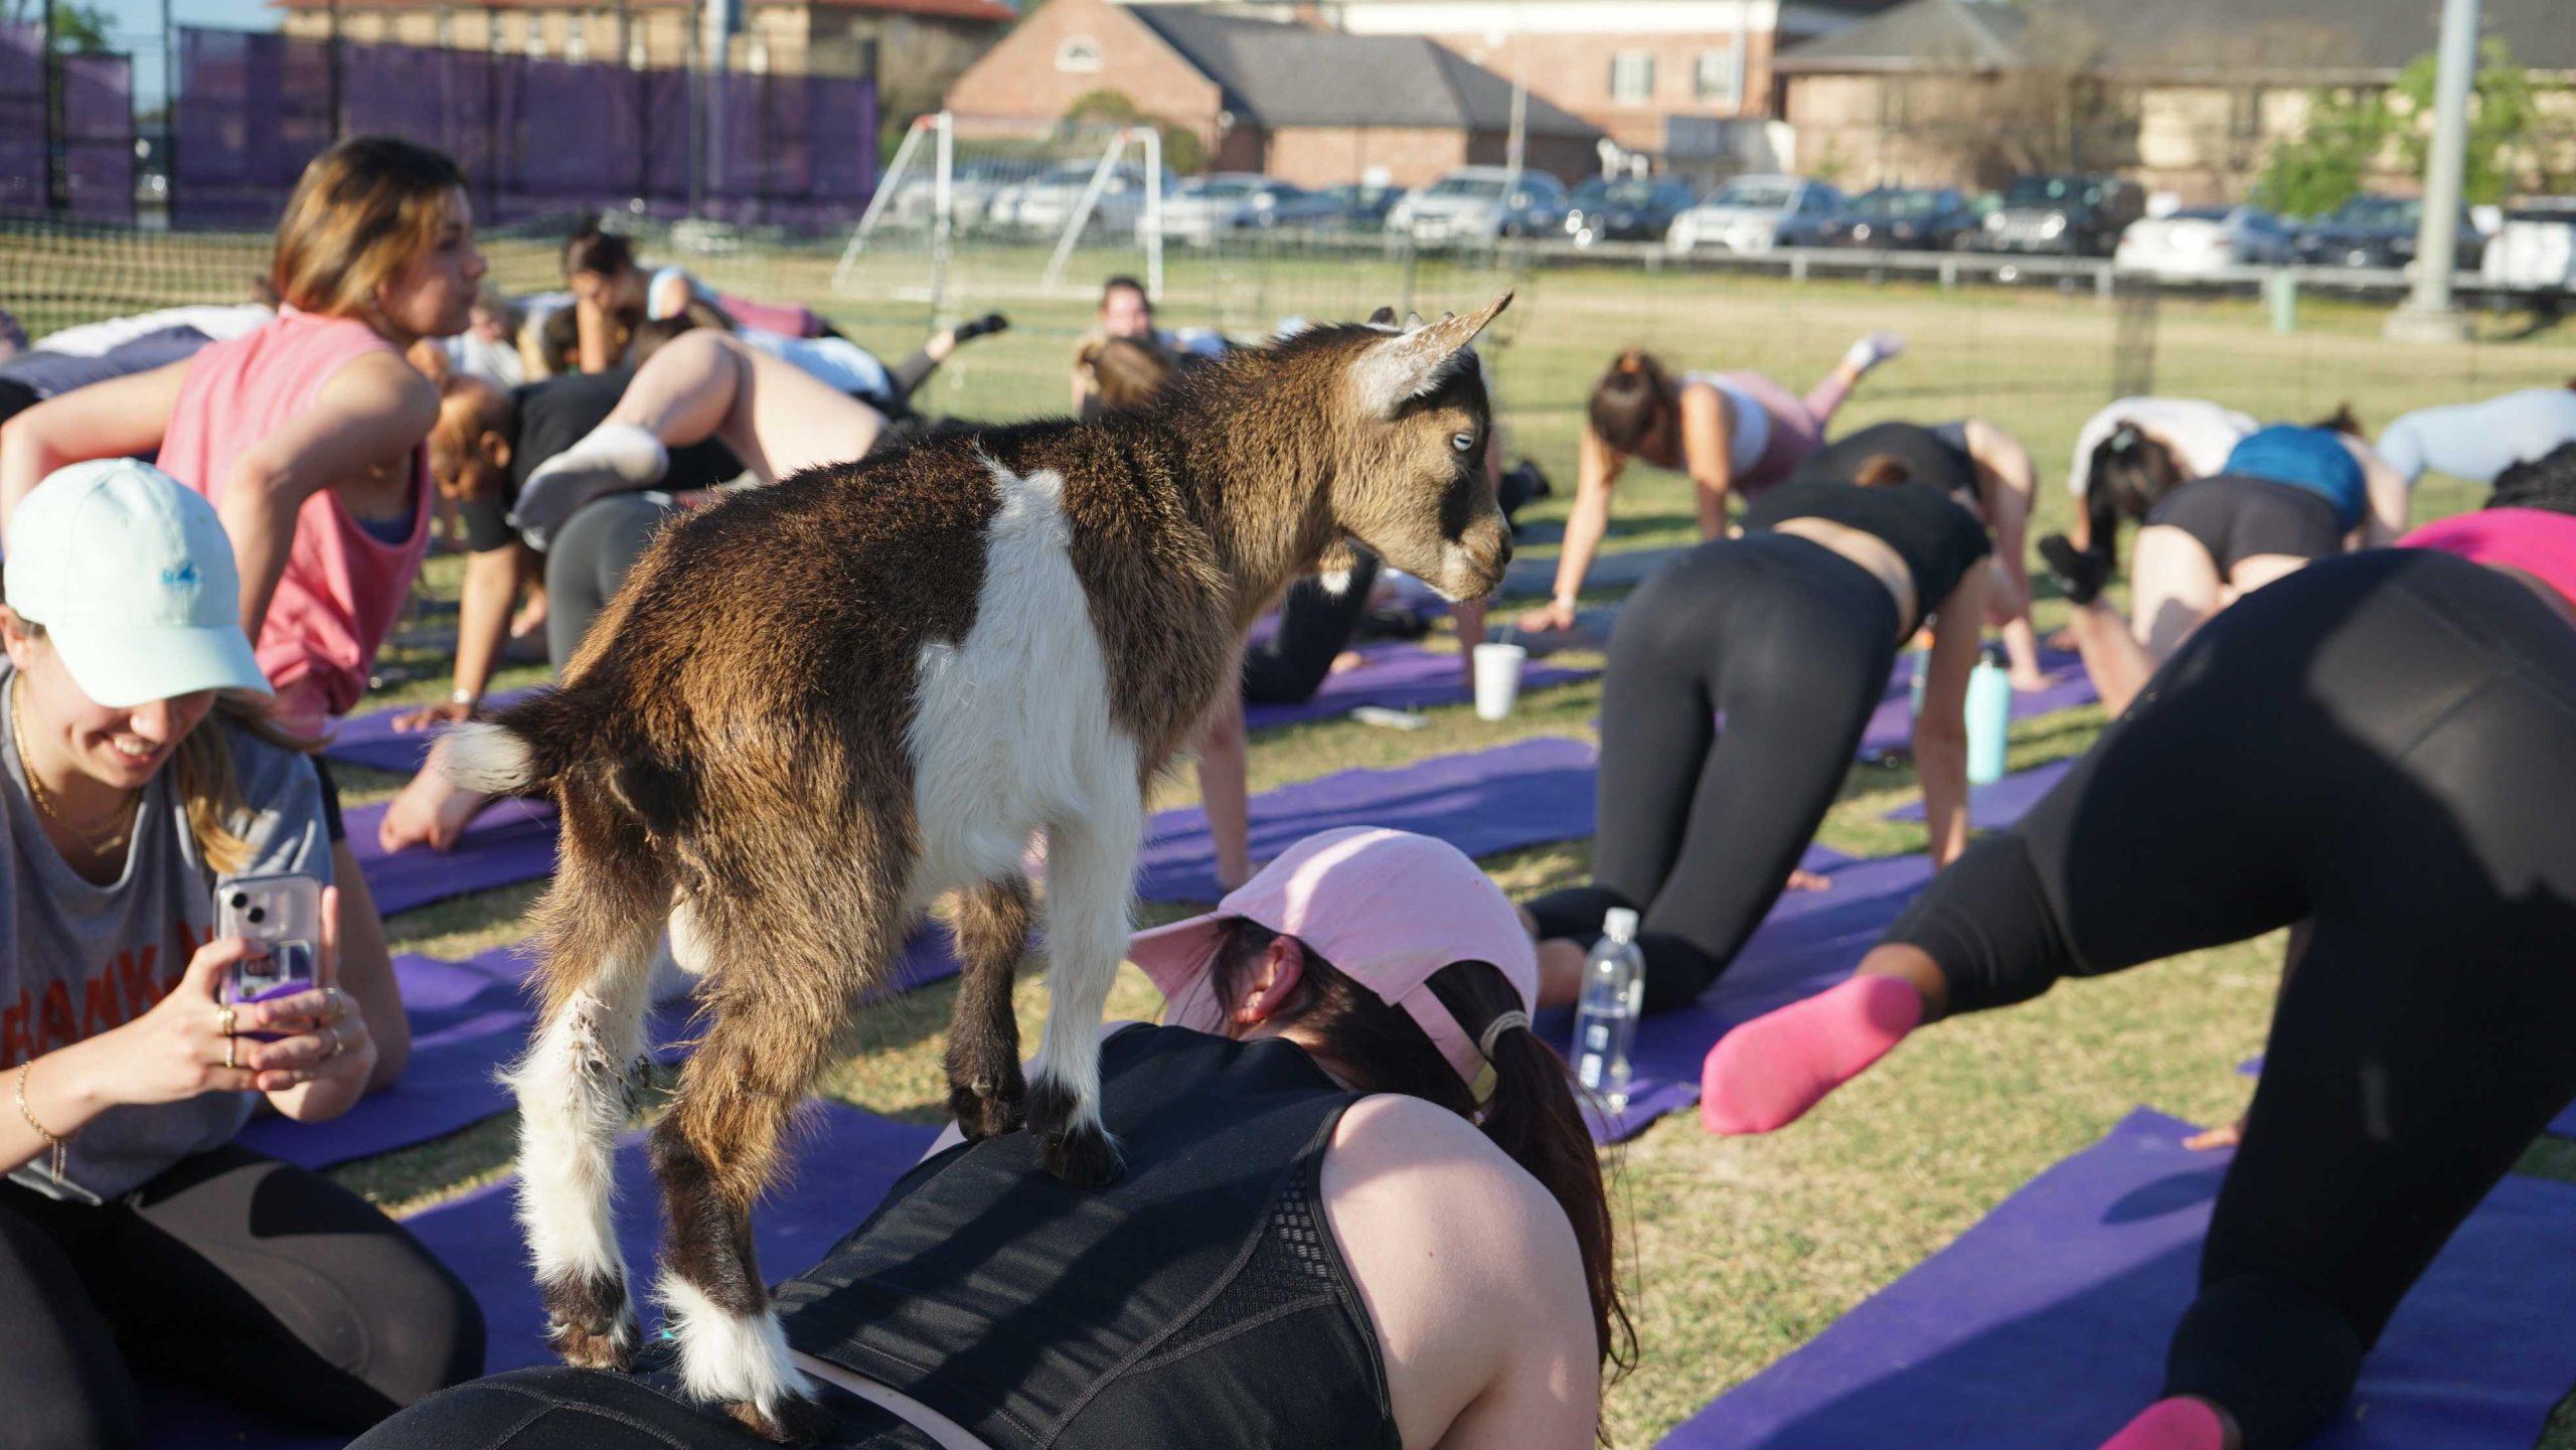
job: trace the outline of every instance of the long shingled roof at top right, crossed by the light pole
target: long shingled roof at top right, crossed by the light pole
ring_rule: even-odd
[[[2481,33],[2543,72],[2576,72],[2566,0],[2486,0]],[[2112,77],[2393,80],[2434,49],[2429,0],[1909,0],[1847,31],[1780,52],[1783,75],[2009,70],[2038,46],[2081,44]]]

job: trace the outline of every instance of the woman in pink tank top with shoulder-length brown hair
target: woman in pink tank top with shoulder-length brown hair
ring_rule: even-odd
[[[464,332],[482,276],[456,162],[392,137],[335,144],[304,167],[278,221],[278,317],[10,420],[0,528],[49,471],[157,448],[160,466],[224,515],[242,628],[278,693],[278,724],[319,739],[366,693],[430,549],[435,497],[420,443],[438,420],[438,386],[402,353]],[[340,950],[355,979],[392,984],[384,922],[327,770],[322,801]],[[379,1022],[376,1046],[379,1077],[392,1079],[410,1053],[402,1012]]]

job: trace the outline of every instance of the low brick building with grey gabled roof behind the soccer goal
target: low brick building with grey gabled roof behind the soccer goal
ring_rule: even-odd
[[[948,88],[958,129],[1028,131],[1074,100],[1118,90],[1185,126],[1213,170],[1303,185],[1417,185],[1461,165],[1502,165],[1512,82],[1419,36],[1355,36],[1296,21],[1110,0],[1046,0]],[[1600,129],[1530,88],[1530,170],[1600,170]]]

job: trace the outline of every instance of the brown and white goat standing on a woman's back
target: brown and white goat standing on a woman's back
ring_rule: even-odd
[[[1115,1177],[1100,1010],[1128,937],[1144,791],[1293,577],[1358,538],[1481,598],[1510,531],[1468,343],[1321,327],[1182,373],[1146,412],[938,438],[809,469],[670,528],[559,690],[456,734],[448,770],[551,791],[541,1020],[513,1069],[520,1221],[556,1352],[629,1365],[611,1216],[626,1071],[670,925],[703,1033],[652,1131],[683,1383],[796,1437],[809,1404],[752,1259],[791,1113],[904,930],[956,896],[948,1095],[1023,1118],[1046,1167]],[[1023,1087],[1012,976],[1046,832],[1046,1038]]]

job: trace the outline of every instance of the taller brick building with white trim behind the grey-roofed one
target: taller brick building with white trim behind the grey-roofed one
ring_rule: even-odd
[[[1151,10],[1296,18],[1355,36],[1425,36],[1600,126],[1628,152],[1703,175],[1780,157],[1772,52],[1896,0],[1126,0]]]

